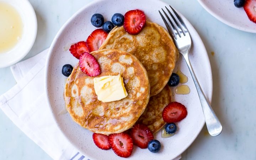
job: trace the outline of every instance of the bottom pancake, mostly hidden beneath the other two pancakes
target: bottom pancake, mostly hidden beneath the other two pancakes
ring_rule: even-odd
[[[148,106],[138,119],[137,123],[145,124],[152,133],[158,132],[158,130],[165,125],[165,122],[162,119],[162,111],[170,102],[171,89],[166,85],[159,94],[150,97]]]

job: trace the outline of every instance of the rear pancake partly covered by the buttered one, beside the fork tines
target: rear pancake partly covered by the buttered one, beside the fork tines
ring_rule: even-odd
[[[119,49],[135,55],[148,72],[150,96],[164,88],[178,59],[178,50],[169,33],[149,21],[137,35],[127,33],[123,26],[113,28],[100,49]]]

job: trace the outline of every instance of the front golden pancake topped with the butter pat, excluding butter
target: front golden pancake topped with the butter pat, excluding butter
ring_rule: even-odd
[[[147,72],[134,55],[121,50],[104,49],[91,54],[101,68],[101,74],[96,77],[120,74],[128,96],[119,101],[99,101],[94,90],[94,77],[82,73],[77,64],[65,85],[66,110],[76,123],[92,132],[121,133],[134,125],[148,104]]]

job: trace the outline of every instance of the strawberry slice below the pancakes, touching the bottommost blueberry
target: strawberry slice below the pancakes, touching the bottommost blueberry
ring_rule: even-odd
[[[149,141],[154,139],[152,132],[143,124],[135,124],[130,129],[130,136],[133,139],[134,145],[137,145],[139,148],[147,148]]]

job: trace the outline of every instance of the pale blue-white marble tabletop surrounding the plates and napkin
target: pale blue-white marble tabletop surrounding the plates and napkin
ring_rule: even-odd
[[[38,34],[24,59],[48,48],[63,23],[90,1],[30,0],[37,15]],[[204,127],[182,154],[182,160],[256,159],[256,34],[223,24],[196,0],[164,1],[180,11],[203,39],[213,72],[212,107],[223,124],[218,137],[210,137]],[[10,67],[0,69],[0,94],[15,83]],[[0,124],[1,160],[28,160],[35,156],[40,160],[51,159],[1,110]]]

